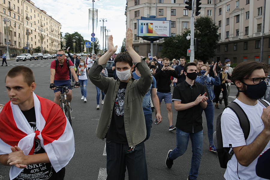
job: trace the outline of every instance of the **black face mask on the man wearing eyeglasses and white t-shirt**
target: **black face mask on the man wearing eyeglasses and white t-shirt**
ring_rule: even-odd
[[[259,84],[249,85],[242,82],[244,85],[247,86],[247,90],[238,90],[238,92],[247,93],[250,98],[253,99],[260,99],[265,95],[267,85],[265,81],[260,82]]]

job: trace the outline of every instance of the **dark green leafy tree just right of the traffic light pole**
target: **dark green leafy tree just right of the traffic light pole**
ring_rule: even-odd
[[[218,43],[218,26],[209,16],[200,16],[195,23],[195,38],[201,39],[200,53],[195,53],[195,58],[204,62],[213,58]],[[195,44],[194,44],[195,45]]]

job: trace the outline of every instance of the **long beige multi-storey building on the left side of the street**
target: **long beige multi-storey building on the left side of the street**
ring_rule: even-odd
[[[45,10],[35,6],[30,0],[0,0],[0,51],[7,51],[4,42],[7,41],[8,29],[9,53],[20,54],[23,47],[27,47],[32,54],[33,49],[42,46],[43,53],[56,53],[60,48],[61,24]],[[9,18],[7,24],[3,18]],[[28,31],[28,35],[27,35]]]

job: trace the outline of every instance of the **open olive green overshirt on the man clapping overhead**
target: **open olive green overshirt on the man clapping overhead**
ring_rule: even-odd
[[[101,70],[106,64],[98,65],[98,59],[94,60],[93,66],[88,72],[91,82],[106,94],[101,116],[96,129],[97,137],[104,140],[109,130],[114,101],[120,85],[120,80],[102,76]],[[125,93],[124,101],[124,125],[129,147],[137,145],[146,138],[146,125],[143,114],[143,98],[152,83],[152,74],[145,59],[134,63],[140,71],[140,79],[130,78]]]

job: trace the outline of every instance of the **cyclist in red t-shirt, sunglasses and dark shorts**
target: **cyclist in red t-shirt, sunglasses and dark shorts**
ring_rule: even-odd
[[[70,70],[73,78],[75,79],[75,88],[78,88],[80,86],[80,83],[78,81],[78,77],[75,73],[73,63],[69,59],[65,58],[65,51],[63,49],[58,50],[57,54],[57,61],[51,62],[50,67],[50,88],[54,91],[54,100],[56,104],[60,104],[60,89],[55,89],[55,86],[69,86],[70,85],[70,79],[68,75],[68,70]],[[72,100],[72,89],[69,87],[69,91],[67,93],[67,100],[71,102]]]

